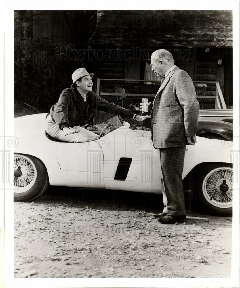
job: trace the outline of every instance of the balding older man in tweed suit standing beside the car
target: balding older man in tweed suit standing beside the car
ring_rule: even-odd
[[[152,107],[152,139],[159,149],[164,209],[154,214],[158,221],[172,224],[186,219],[182,171],[186,144],[195,145],[199,103],[189,75],[174,65],[165,49],[153,52],[152,71],[163,82]]]

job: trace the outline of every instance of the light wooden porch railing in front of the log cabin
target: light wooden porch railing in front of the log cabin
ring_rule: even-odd
[[[155,98],[156,94],[144,94],[144,93],[114,93],[114,92],[100,92],[100,81],[115,81],[115,82],[152,82],[156,84],[160,84],[160,81],[148,81],[148,80],[136,80],[136,79],[97,79],[97,91],[96,93],[100,96],[120,96],[120,97],[139,97],[139,98]],[[193,81],[193,83],[215,83],[216,92],[215,95],[205,95],[205,99],[215,99],[215,109],[227,109],[222,91],[217,81]],[[150,84],[151,85],[151,84]],[[117,84],[116,84],[117,86]],[[203,98],[203,96],[197,96],[197,98]]]

